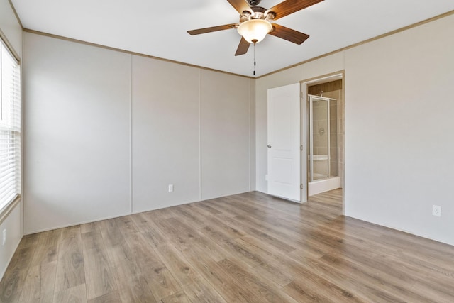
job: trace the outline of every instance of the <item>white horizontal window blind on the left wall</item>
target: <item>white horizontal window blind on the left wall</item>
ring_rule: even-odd
[[[21,191],[21,69],[0,39],[0,209]]]

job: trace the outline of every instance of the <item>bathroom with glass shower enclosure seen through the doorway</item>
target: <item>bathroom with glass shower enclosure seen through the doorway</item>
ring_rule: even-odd
[[[343,188],[344,102],[342,79],[308,87],[308,195]]]

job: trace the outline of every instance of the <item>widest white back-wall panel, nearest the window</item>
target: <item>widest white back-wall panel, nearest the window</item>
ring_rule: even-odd
[[[131,55],[24,33],[25,233],[130,210]]]

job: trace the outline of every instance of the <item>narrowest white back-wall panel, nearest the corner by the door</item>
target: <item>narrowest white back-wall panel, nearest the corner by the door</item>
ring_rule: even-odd
[[[201,71],[201,196],[248,192],[250,80]]]

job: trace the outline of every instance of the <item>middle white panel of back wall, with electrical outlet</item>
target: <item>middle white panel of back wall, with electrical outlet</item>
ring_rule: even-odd
[[[133,56],[133,79],[133,211],[198,201],[200,70]]]

